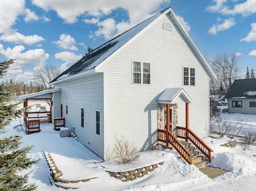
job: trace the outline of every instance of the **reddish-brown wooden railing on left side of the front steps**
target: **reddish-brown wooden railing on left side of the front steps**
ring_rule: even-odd
[[[171,144],[184,160],[189,164],[193,163],[193,154],[191,154],[170,131],[158,129],[158,141],[166,142],[167,146]]]

